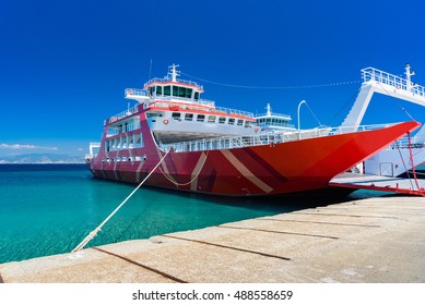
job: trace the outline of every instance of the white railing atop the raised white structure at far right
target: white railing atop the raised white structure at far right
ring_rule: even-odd
[[[386,84],[398,89],[403,89],[406,91],[411,91],[414,95],[420,95],[425,97],[425,87],[420,86],[415,83],[408,84],[408,81],[403,77],[387,73],[385,71],[375,69],[375,68],[366,68],[362,70],[362,78],[364,83],[374,81],[381,84]]]

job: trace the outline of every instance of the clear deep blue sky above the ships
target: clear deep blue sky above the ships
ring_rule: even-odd
[[[0,1],[0,156],[82,155],[104,119],[127,108],[126,87],[162,77],[172,63],[211,82],[306,86],[393,74],[410,62],[425,84],[423,1]],[[182,77],[181,77],[182,78]],[[185,77],[189,78],[189,77]],[[199,82],[202,83],[202,82]],[[217,106],[291,114],[307,100],[339,125],[359,83],[247,89],[203,83]],[[424,122],[423,109],[376,96],[364,123]],[[316,120],[302,109],[302,127]]]

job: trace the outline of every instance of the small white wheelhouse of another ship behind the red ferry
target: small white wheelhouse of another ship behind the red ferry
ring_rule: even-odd
[[[267,112],[256,115],[257,125],[261,132],[294,132],[296,131],[294,124],[291,124],[291,115],[273,113],[270,103],[265,107]]]

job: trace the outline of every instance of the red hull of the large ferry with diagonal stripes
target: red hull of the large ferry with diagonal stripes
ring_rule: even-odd
[[[416,122],[243,148],[174,152],[145,185],[224,196],[265,196],[326,190],[329,181],[415,130]],[[87,161],[99,179],[140,183],[165,155],[147,137],[143,148],[99,154]],[[129,161],[131,156],[143,156]],[[119,162],[107,162],[106,159]],[[127,161],[122,161],[127,160]]]

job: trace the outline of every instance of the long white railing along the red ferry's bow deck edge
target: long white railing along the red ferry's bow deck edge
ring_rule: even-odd
[[[389,126],[390,124],[364,125],[358,131],[371,131]],[[392,124],[391,124],[392,125]],[[180,143],[162,144],[164,150],[173,149],[174,152],[203,151],[217,149],[232,149],[259,145],[273,145],[285,142],[315,138],[328,135],[343,134],[341,127],[316,127],[294,132],[271,132],[247,136],[222,136],[203,138]]]

